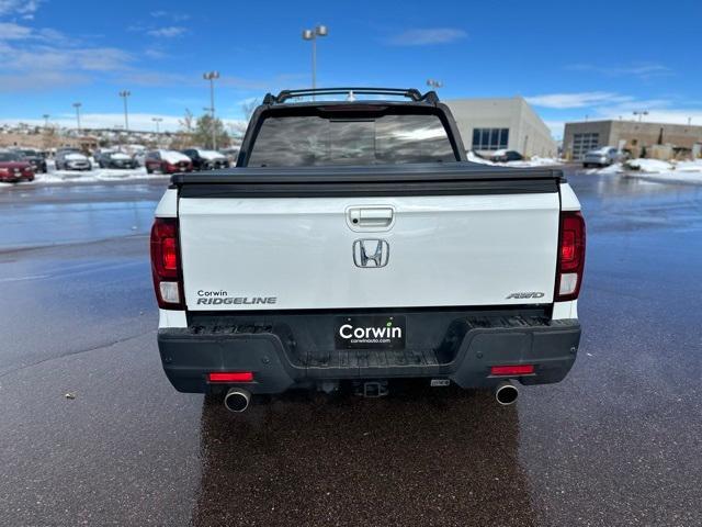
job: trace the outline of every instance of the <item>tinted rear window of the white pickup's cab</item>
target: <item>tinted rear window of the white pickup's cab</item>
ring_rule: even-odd
[[[268,117],[251,147],[249,167],[399,165],[455,161],[437,115],[362,119]]]

